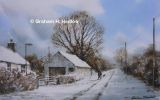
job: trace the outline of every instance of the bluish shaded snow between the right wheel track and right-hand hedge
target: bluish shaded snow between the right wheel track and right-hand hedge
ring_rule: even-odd
[[[156,98],[160,94],[156,93],[151,87],[146,86],[142,81],[127,76],[117,69],[104,89],[100,100],[160,100]]]

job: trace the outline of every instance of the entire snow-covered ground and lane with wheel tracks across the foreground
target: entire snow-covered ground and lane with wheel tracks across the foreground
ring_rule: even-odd
[[[160,100],[158,92],[119,69],[104,74],[101,80],[92,76],[73,84],[0,95],[0,100]]]

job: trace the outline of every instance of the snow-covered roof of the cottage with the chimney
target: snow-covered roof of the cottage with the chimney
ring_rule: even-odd
[[[26,64],[26,60],[18,53],[0,45],[0,62],[10,62],[14,64]],[[28,64],[28,62],[27,62]]]

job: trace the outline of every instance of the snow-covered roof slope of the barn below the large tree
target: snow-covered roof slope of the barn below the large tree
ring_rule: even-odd
[[[62,52],[62,51],[59,51],[59,53],[62,54],[70,62],[72,62],[75,66],[91,68],[86,62],[82,61],[76,55],[69,54],[69,53]]]

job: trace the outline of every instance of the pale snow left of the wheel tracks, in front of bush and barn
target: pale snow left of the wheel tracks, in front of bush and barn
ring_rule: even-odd
[[[41,86],[34,91],[0,95],[0,100],[69,100],[76,93],[91,88],[99,81],[97,75],[94,75],[73,84]]]

